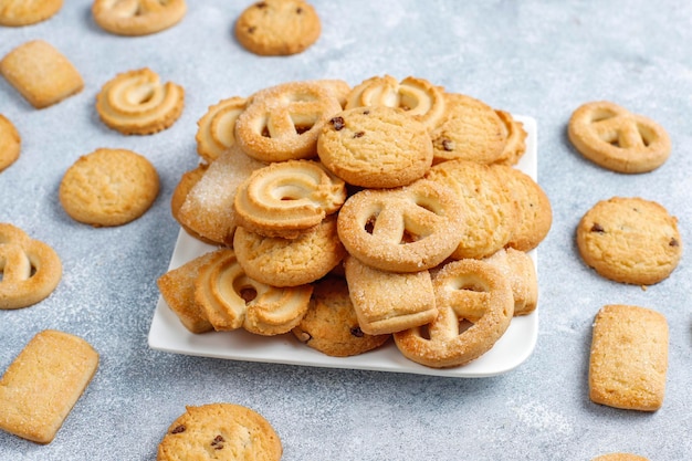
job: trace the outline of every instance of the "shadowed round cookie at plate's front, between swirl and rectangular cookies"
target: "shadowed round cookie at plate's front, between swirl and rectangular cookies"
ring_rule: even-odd
[[[332,357],[349,357],[376,349],[389,339],[390,335],[363,333],[344,279],[328,276],[315,282],[314,287],[307,313],[293,328],[301,343]]]

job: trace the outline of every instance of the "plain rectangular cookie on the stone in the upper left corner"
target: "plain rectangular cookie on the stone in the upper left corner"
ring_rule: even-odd
[[[35,108],[57,104],[84,88],[74,65],[43,40],[10,51],[0,61],[0,74]]]

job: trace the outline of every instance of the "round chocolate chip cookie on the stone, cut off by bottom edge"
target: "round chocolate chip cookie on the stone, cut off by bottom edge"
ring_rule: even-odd
[[[233,404],[187,406],[158,446],[157,461],[279,461],[283,447],[272,425]]]

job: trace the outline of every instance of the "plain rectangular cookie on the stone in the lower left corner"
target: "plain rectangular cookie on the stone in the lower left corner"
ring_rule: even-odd
[[[84,339],[40,332],[0,378],[0,429],[52,442],[97,366],[98,353]]]

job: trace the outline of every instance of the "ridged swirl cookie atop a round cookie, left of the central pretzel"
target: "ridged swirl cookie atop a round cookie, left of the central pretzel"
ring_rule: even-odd
[[[346,185],[313,160],[289,160],[254,170],[238,188],[237,220],[266,237],[295,239],[346,200]]]

